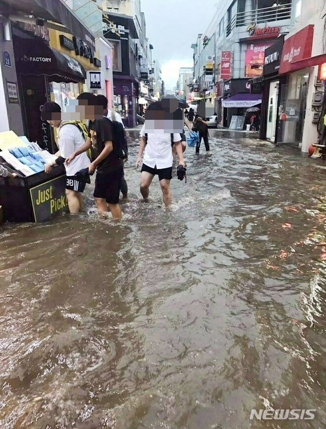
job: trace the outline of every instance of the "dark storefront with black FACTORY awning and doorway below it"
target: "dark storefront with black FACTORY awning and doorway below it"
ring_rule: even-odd
[[[74,58],[18,27],[13,27],[13,46],[24,134],[42,149],[54,153],[52,130],[41,120],[42,106],[53,100],[65,111],[68,98],[79,93],[78,83],[85,82],[85,69]]]

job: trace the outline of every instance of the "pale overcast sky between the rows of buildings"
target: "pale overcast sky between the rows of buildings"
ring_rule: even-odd
[[[217,0],[141,0],[146,35],[154,47],[153,60],[162,66],[166,89],[176,85],[179,68],[192,67],[192,43],[204,33]]]

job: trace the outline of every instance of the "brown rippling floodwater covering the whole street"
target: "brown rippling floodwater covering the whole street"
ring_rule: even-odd
[[[120,224],[0,227],[1,429],[324,427],[326,164],[211,130],[166,211],[138,135]]]

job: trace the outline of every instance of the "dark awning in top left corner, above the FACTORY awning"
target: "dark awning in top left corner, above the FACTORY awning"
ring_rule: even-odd
[[[6,6],[2,6],[6,4]],[[1,7],[2,6],[2,7]],[[79,37],[95,49],[95,37],[84,23],[73,13],[63,0],[1,0],[2,13],[23,12],[36,18],[59,22],[74,36]]]

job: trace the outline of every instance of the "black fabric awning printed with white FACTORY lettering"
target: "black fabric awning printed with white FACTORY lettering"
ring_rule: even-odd
[[[46,75],[50,82],[83,82],[84,67],[74,58],[51,48],[42,40],[21,39],[14,43],[16,67],[23,75]]]

